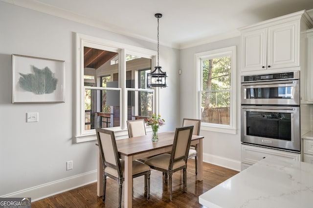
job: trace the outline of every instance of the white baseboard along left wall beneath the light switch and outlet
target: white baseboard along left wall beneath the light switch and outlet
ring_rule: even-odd
[[[82,187],[94,183],[96,181],[97,170],[93,170],[58,181],[53,181],[36,187],[27,188],[0,197],[31,197],[31,201],[35,202],[58,193],[62,193],[77,187]]]

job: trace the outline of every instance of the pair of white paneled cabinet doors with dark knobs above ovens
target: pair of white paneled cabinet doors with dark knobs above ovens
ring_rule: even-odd
[[[242,34],[242,71],[299,66],[299,26],[290,21]]]

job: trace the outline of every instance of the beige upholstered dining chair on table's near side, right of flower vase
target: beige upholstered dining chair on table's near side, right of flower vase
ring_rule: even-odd
[[[174,172],[183,170],[183,190],[185,192],[187,191],[187,158],[192,131],[192,125],[176,128],[171,154],[164,153],[156,155],[145,161],[145,164],[152,169],[162,171],[169,176],[170,201],[173,200],[172,174]]]

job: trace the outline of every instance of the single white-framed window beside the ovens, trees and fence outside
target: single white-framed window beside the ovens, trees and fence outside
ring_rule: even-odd
[[[236,131],[236,47],[195,54],[201,129]]]

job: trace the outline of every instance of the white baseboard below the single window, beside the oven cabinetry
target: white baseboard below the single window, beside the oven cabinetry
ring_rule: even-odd
[[[211,163],[217,166],[222,166],[222,167],[226,167],[226,168],[237,170],[237,171],[241,170],[241,161],[232,160],[232,159],[220,157],[217,155],[203,153],[203,162]]]

